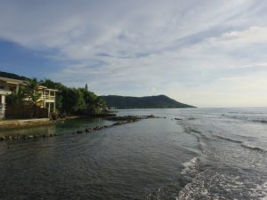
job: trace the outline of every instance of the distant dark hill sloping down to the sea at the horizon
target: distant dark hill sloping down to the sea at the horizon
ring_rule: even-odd
[[[173,100],[165,95],[148,97],[101,96],[108,108],[194,108]]]

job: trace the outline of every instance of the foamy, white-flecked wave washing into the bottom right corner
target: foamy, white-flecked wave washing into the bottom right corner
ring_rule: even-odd
[[[182,188],[176,199],[266,200],[266,189],[266,180],[257,174],[246,176],[239,172],[206,169],[199,172],[190,183]]]

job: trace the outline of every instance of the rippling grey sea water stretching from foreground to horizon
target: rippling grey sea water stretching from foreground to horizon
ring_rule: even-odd
[[[267,108],[117,114],[166,118],[90,134],[71,133],[110,122],[23,130],[64,135],[0,142],[0,199],[267,198]]]

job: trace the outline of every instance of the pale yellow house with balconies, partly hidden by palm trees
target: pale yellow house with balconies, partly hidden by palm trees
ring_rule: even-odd
[[[28,81],[0,77],[0,90],[3,91],[4,98],[5,95],[8,95],[10,93],[18,93],[20,88],[25,88],[28,84]],[[49,89],[43,85],[39,85],[36,92],[39,96],[39,99],[36,101],[36,105],[40,108],[47,108],[47,115],[49,116],[51,112],[54,112],[56,110],[57,90]],[[26,100],[28,100],[28,98],[25,98],[25,101]]]

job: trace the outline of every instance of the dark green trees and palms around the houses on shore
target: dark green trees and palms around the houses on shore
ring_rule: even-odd
[[[56,93],[56,107],[60,114],[100,114],[105,108],[104,101],[93,92],[89,92],[87,84],[85,88],[71,88],[61,83],[55,83],[50,79],[37,81],[36,78],[30,79],[7,72],[0,72],[0,76],[28,81],[27,86],[20,86],[18,93],[7,96],[6,102],[9,105],[26,103],[25,99],[28,99],[28,104],[35,108],[37,100],[40,98],[40,94],[36,91],[39,85],[43,85],[58,90]]]

